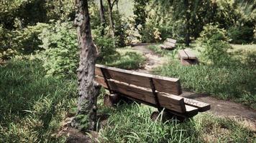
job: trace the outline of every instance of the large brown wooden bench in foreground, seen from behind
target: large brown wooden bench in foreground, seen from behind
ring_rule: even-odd
[[[110,98],[119,99],[116,95],[127,97],[136,102],[165,108],[169,114],[186,119],[198,112],[209,110],[210,104],[180,97],[182,94],[180,80],[160,77],[152,74],[117,69],[96,64],[96,82],[109,89]]]

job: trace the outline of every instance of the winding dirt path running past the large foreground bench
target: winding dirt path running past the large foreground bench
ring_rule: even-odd
[[[133,48],[141,51],[147,58],[145,67],[137,71],[149,73],[151,69],[155,68],[156,66],[160,66],[161,64],[164,64],[164,62],[162,61],[163,58],[155,54],[154,51],[147,49],[145,45],[134,46]],[[255,109],[244,107],[242,104],[215,99],[214,97],[209,97],[209,95],[206,94],[183,92],[181,96],[209,103],[211,104],[211,110],[209,110],[208,112],[211,112],[212,114],[219,117],[228,117],[230,119],[234,119],[237,122],[244,124],[246,127],[250,127],[250,129],[256,131]]]

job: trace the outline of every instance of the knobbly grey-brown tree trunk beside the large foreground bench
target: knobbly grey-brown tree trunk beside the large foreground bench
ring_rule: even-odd
[[[76,0],[76,19],[80,62],[78,67],[78,112],[73,127],[83,131],[95,130],[96,102],[99,84],[94,82],[94,70],[98,51],[91,37],[90,16],[87,0]]]

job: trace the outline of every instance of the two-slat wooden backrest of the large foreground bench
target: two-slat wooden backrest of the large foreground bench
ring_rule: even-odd
[[[96,82],[104,88],[142,102],[158,105],[175,112],[186,112],[180,80],[96,64]],[[107,83],[106,83],[107,82]],[[155,99],[157,94],[158,102]]]

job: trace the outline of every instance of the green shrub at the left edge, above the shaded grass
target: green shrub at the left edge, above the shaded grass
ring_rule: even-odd
[[[13,31],[0,27],[0,58],[6,60],[17,54],[35,54],[35,51],[42,50],[39,47],[42,41],[38,39],[38,35],[47,26],[49,25],[38,23]]]

